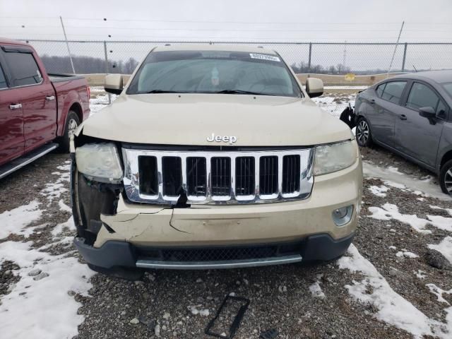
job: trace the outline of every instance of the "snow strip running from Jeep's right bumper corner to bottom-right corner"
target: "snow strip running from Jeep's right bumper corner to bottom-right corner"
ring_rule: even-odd
[[[338,260],[338,266],[355,273],[362,273],[361,281],[353,280],[352,285],[346,285],[350,296],[362,304],[371,304],[376,311],[376,319],[389,323],[411,333],[415,338],[432,335],[438,338],[451,338],[452,307],[444,309],[446,323],[429,319],[407,299],[398,295],[378,270],[364,258],[352,244],[347,251],[349,256]]]

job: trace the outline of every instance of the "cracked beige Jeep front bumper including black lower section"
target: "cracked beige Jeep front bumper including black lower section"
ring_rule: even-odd
[[[91,267],[208,269],[325,261],[355,235],[361,162],[316,178],[304,201],[177,208],[130,203],[121,186],[90,182],[71,166],[74,240]],[[335,208],[352,206],[335,225]]]

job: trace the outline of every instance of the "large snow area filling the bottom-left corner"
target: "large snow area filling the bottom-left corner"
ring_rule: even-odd
[[[8,260],[20,266],[14,271],[20,280],[1,298],[1,338],[72,338],[83,321],[77,314],[81,304],[73,299],[74,292],[88,295],[88,279],[94,273],[77,258],[52,256],[31,245],[0,244],[0,264]]]

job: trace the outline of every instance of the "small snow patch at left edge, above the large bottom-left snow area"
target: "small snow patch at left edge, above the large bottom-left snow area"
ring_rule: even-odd
[[[38,209],[39,206],[40,203],[32,201],[27,205],[1,213],[0,239],[8,237],[9,234],[22,234],[25,237],[29,237],[32,230],[24,227],[41,218],[42,210]]]

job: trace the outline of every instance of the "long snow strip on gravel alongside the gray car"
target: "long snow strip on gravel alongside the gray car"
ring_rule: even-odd
[[[375,177],[387,180],[384,184],[398,189],[409,189],[410,191],[422,191],[428,196],[439,200],[452,201],[452,197],[444,194],[438,184],[432,182],[429,177],[425,180],[416,179],[412,175],[402,174],[395,167],[391,169],[382,168],[367,161],[363,162],[363,172],[366,177]]]

